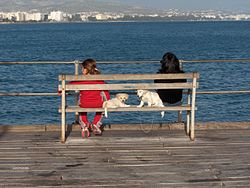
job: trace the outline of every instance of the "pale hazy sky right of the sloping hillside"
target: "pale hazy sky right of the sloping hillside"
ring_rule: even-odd
[[[157,9],[250,11],[250,0],[119,0]]]

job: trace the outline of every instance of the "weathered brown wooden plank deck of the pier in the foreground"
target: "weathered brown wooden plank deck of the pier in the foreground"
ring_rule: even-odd
[[[73,130],[66,144],[48,128],[1,127],[0,187],[249,187],[250,123],[215,127],[194,142],[179,129]]]

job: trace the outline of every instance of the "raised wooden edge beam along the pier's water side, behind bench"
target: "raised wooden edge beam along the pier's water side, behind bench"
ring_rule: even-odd
[[[145,129],[152,129],[152,130],[157,130],[157,129],[165,129],[165,130],[183,130],[183,123],[174,123],[174,122],[165,122],[162,124],[143,124],[143,128]],[[107,124],[105,127],[107,130],[141,130],[141,124]],[[206,130],[207,132],[209,131],[216,131],[217,135],[220,135],[220,138],[223,139],[225,136],[228,135],[227,131],[230,131],[233,129],[234,133],[231,135],[232,138],[237,139],[240,138],[242,129],[245,130],[246,132],[250,129],[250,122],[197,122],[195,124],[196,130]],[[79,130],[79,125],[78,124],[73,124],[72,125],[72,130],[78,131]],[[37,135],[38,138],[43,138],[42,132],[56,132],[60,131],[60,125],[55,125],[55,124],[48,124],[48,125],[1,125],[0,126],[0,138],[2,137],[9,137],[11,134],[10,133],[15,133],[15,132],[25,132],[27,136],[33,135],[34,137]],[[177,134],[177,133],[175,133]],[[250,132],[249,132],[250,134]],[[178,135],[176,135],[178,136]],[[182,135],[181,135],[182,136]],[[18,142],[17,138],[12,137],[13,142]],[[243,140],[241,138],[241,140]],[[22,138],[21,141],[25,141],[25,136]],[[1,140],[0,142],[5,142],[5,140]],[[7,142],[7,141],[6,141]],[[12,143],[12,140],[8,141],[9,144]]]

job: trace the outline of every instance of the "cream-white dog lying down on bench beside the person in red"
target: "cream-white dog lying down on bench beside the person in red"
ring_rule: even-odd
[[[108,108],[130,107],[130,105],[125,104],[127,99],[127,93],[117,93],[115,98],[105,101],[102,105],[105,117],[108,117]]]

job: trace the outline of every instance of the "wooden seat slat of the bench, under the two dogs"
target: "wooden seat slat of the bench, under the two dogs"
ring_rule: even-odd
[[[190,105],[182,105],[182,106],[165,106],[165,107],[148,107],[144,106],[142,108],[131,106],[124,108],[108,108],[108,112],[146,112],[146,111],[184,111],[191,110]],[[61,108],[58,110],[61,113]],[[79,106],[67,106],[66,112],[104,112],[104,108],[81,108]]]

